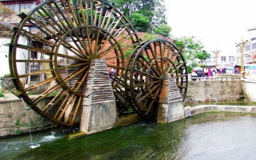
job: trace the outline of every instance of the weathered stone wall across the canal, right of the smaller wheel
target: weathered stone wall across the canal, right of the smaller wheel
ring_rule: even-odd
[[[214,80],[214,81],[213,81]],[[243,95],[240,77],[218,77],[189,81],[185,102],[230,101]],[[215,97],[215,98],[214,98]]]

